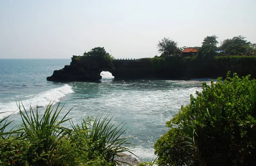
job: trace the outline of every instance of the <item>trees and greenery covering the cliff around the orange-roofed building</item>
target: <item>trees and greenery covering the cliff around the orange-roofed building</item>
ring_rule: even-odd
[[[256,44],[247,42],[245,37],[238,36],[226,39],[221,47],[217,47],[216,35],[204,38],[201,47],[194,47],[198,53],[189,56],[182,54],[183,48],[177,47],[177,42],[163,38],[157,44],[161,56],[148,58],[151,72],[158,78],[202,78],[225,76],[227,71],[256,76]],[[236,56],[233,56],[236,53]],[[144,60],[145,61],[145,60]]]

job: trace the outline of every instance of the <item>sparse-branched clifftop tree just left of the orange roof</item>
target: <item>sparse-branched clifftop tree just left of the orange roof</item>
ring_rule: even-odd
[[[162,53],[160,57],[180,54],[180,50],[177,47],[177,42],[166,37],[164,37],[161,41],[158,41],[157,48],[158,51]]]

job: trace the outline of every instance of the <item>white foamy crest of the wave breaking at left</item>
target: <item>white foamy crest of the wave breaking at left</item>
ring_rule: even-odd
[[[49,102],[54,101],[56,103],[60,101],[62,97],[66,96],[69,93],[74,93],[74,91],[68,84],[65,84],[63,87],[50,89],[45,92],[36,94],[32,97],[29,97],[29,99],[22,101],[22,103],[26,110],[29,110],[30,105],[32,106],[32,108],[46,107],[49,104]],[[2,112],[0,114],[0,119],[11,114],[17,114],[18,103],[19,103],[18,101],[17,103],[16,101],[9,102],[7,104],[0,103],[0,112]]]

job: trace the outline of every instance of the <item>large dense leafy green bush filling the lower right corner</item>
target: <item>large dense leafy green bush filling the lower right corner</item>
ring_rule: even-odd
[[[191,95],[155,143],[159,165],[215,166],[256,163],[256,80],[236,73]]]

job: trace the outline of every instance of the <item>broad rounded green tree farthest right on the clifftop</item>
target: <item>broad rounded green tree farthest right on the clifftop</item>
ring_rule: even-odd
[[[246,37],[239,35],[237,37],[233,37],[232,39],[225,39],[221,49],[230,55],[249,55],[253,52],[253,45],[251,45],[250,42],[247,42],[245,38]]]

